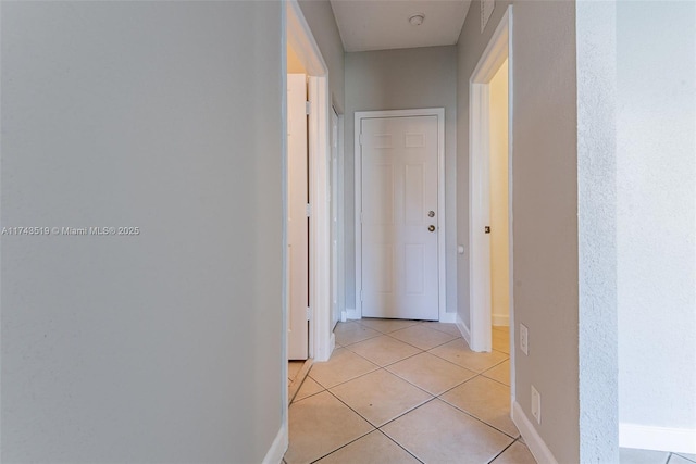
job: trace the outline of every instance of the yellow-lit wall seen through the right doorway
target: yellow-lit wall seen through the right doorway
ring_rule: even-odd
[[[508,60],[490,80],[490,313],[493,325],[510,324],[508,227]]]

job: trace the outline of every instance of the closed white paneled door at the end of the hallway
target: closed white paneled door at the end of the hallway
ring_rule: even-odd
[[[437,116],[360,130],[362,315],[437,321]]]

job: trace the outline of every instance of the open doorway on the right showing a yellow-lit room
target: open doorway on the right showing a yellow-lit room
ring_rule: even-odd
[[[511,24],[509,7],[470,79],[469,244],[471,349],[495,342],[514,366]]]

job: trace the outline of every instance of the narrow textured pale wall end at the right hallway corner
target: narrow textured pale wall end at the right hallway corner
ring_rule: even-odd
[[[617,5],[576,2],[580,462],[619,462]]]

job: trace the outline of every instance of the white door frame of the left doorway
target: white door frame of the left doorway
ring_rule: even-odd
[[[328,67],[304,20],[297,0],[286,2],[286,34],[283,55],[289,43],[308,74],[310,101],[309,201],[310,201],[310,340],[309,355],[327,361],[335,346],[331,331],[331,214],[330,214],[330,111]],[[287,41],[287,42],[286,42]],[[284,78],[286,78],[284,76]],[[287,277],[284,285],[287,286]],[[287,304],[284,318],[287,318]],[[287,321],[286,321],[287,323]],[[287,326],[284,328],[287,330]],[[287,363],[287,353],[284,353]]]

